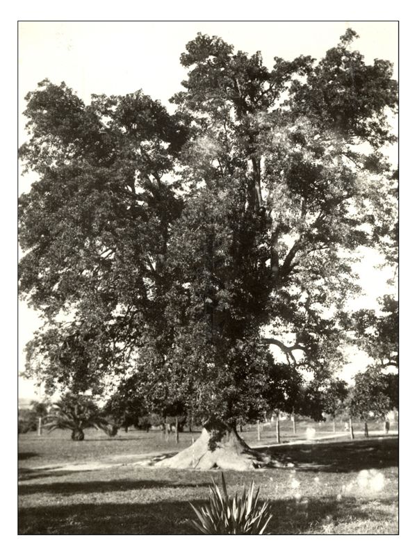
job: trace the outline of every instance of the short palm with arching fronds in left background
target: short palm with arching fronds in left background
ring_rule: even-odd
[[[102,430],[108,436],[117,434],[117,427],[101,416],[92,400],[72,394],[64,395],[59,402],[54,403],[44,428],[49,432],[56,429],[71,430],[71,438],[75,441],[84,440],[84,430],[89,428]]]

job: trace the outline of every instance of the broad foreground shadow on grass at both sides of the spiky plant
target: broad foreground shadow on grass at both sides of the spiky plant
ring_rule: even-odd
[[[204,500],[193,500],[201,504]],[[394,503],[394,499],[386,501]],[[354,498],[336,502],[322,498],[303,503],[294,499],[271,503],[271,534],[310,534],[325,532],[322,526],[366,521],[363,534],[373,532],[384,523],[386,532],[395,534],[395,523],[383,509],[363,510]],[[188,502],[151,504],[76,504],[22,508],[19,512],[19,534],[197,534],[190,525],[195,518]],[[391,515],[391,521],[393,518]],[[389,525],[386,525],[386,523]],[[328,531],[329,532],[329,531]]]

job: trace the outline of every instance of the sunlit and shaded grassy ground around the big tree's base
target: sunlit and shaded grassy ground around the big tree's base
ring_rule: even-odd
[[[326,436],[330,430],[317,436]],[[295,439],[300,441],[304,433],[300,425]],[[20,436],[20,534],[195,534],[188,502],[204,502],[211,477],[219,480],[220,473],[132,464],[140,455],[174,452],[190,445],[190,433],[180,435],[179,446],[173,439],[165,443],[156,432],[135,431],[107,439],[88,431],[81,443],[72,442],[69,436],[61,432]],[[243,436],[250,445],[256,444],[255,430]],[[272,443],[274,436],[264,430],[259,445]],[[398,532],[396,436],[263,449],[290,457],[295,466],[224,475],[231,493],[252,479],[261,486],[262,498],[269,498],[272,506],[270,533]],[[92,471],[58,467],[92,460],[120,465]]]

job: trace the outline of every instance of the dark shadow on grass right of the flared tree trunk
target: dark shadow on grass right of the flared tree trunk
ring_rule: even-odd
[[[259,451],[277,459],[289,459],[303,471],[348,473],[398,466],[398,438],[281,445]]]

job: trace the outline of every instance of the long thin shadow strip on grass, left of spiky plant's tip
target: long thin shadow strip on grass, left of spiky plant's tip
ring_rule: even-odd
[[[31,477],[32,478],[32,477]],[[52,493],[63,496],[73,494],[91,494],[116,491],[135,491],[142,489],[184,489],[200,486],[209,486],[208,482],[199,483],[174,483],[172,481],[155,480],[111,480],[111,481],[90,481],[90,482],[54,482],[50,484],[21,484],[19,485],[19,495]]]

